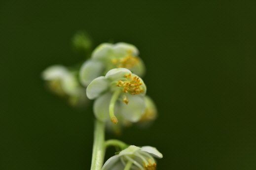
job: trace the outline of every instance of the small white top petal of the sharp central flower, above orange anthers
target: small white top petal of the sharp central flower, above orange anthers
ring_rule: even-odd
[[[125,75],[129,73],[132,72],[126,68],[114,68],[110,70],[105,77],[110,81],[118,81],[121,79],[125,79]]]

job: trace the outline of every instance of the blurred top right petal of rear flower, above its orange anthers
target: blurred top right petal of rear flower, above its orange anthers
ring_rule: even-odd
[[[124,57],[131,53],[133,56],[139,55],[139,50],[132,44],[119,42],[113,46],[113,52],[116,57]]]

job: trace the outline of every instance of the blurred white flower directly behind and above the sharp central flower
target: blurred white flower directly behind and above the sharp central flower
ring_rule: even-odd
[[[103,43],[92,53],[91,59],[81,66],[79,77],[84,86],[88,86],[95,78],[106,74],[113,68],[127,68],[133,73],[143,76],[145,65],[138,57],[138,49],[127,43]]]

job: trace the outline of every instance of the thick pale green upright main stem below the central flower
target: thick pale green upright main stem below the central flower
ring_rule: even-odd
[[[101,170],[105,156],[105,123],[95,120],[91,170]]]

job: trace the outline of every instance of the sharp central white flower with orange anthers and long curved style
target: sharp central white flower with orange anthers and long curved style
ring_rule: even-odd
[[[119,117],[137,122],[145,113],[146,85],[140,77],[125,68],[112,69],[106,76],[94,79],[88,85],[86,94],[89,99],[96,99],[93,109],[101,121],[106,121],[110,115],[115,124]]]

